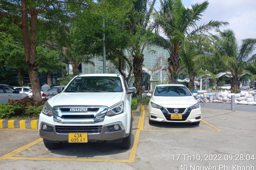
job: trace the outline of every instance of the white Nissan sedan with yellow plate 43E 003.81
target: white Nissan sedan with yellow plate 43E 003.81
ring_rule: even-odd
[[[199,125],[201,107],[195,99],[197,93],[191,94],[182,84],[160,84],[146,96],[149,101],[149,124],[157,122],[191,122]]]

